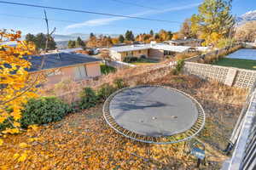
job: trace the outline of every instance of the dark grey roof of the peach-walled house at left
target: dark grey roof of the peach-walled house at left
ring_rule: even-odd
[[[44,67],[42,70],[60,68],[69,65],[79,65],[85,63],[92,63],[101,61],[102,59],[96,59],[84,54],[71,54],[71,53],[56,53],[56,54],[45,54],[45,55],[30,55],[26,56],[32,63],[32,67],[28,71],[39,71],[42,59],[45,56]]]

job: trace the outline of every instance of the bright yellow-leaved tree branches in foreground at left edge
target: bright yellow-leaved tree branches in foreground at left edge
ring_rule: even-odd
[[[28,99],[36,96],[40,80],[39,75],[29,74],[31,63],[24,57],[34,54],[35,46],[20,41],[20,37],[20,31],[0,30],[0,124],[10,125],[0,134],[20,132],[21,110]]]

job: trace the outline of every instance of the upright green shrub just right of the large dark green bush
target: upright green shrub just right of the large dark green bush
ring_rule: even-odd
[[[92,88],[84,88],[81,94],[81,100],[79,102],[80,109],[89,109],[94,107],[98,103],[98,98],[95,91]]]

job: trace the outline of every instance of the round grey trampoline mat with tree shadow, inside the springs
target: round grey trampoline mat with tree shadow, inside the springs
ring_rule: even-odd
[[[151,137],[183,133],[198,118],[192,99],[158,86],[127,88],[115,94],[109,103],[109,114],[120,127]]]

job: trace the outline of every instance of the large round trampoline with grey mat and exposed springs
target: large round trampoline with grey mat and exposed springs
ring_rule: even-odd
[[[166,86],[122,88],[105,101],[103,116],[116,132],[151,144],[191,139],[205,123],[205,113],[193,97]]]

